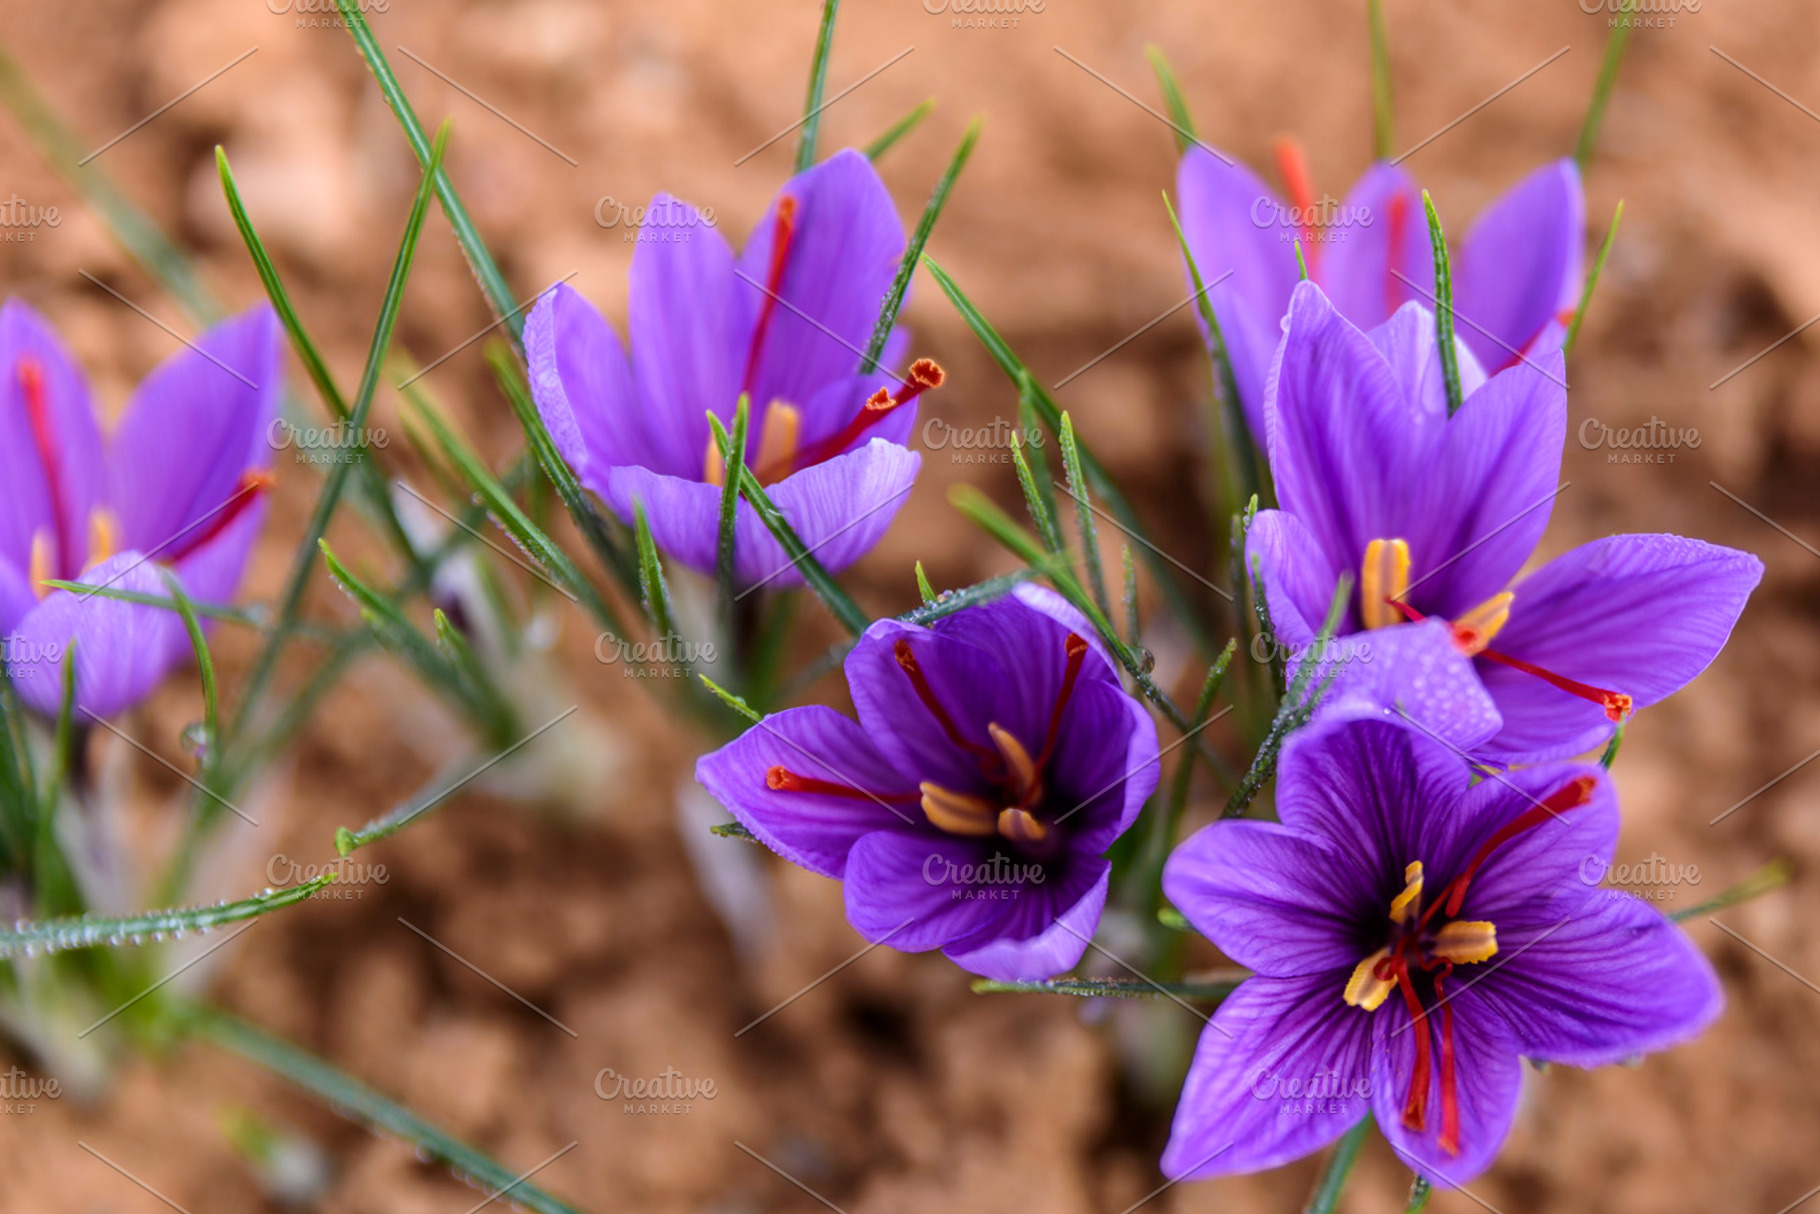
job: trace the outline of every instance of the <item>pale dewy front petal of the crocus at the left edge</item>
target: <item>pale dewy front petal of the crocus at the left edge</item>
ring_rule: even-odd
[[[86,573],[91,584],[167,595],[157,568],[122,551]],[[102,595],[53,590],[25,613],[7,644],[7,675],[25,704],[55,713],[62,704],[62,663],[76,646],[76,721],[111,717],[151,693],[189,652],[175,612]]]

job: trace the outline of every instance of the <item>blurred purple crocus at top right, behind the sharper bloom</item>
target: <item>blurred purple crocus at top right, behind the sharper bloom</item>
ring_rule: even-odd
[[[1316,197],[1299,147],[1279,140],[1283,202],[1256,173],[1207,147],[1181,158],[1181,231],[1227,340],[1252,435],[1263,439],[1265,373],[1296,288],[1296,242],[1309,277],[1340,313],[1372,329],[1410,300],[1432,304],[1434,251],[1421,187],[1378,162],[1345,202]],[[1547,164],[1487,206],[1449,253],[1460,340],[1491,369],[1545,346],[1580,293],[1585,198],[1572,160]],[[1400,277],[1401,275],[1401,277]]]

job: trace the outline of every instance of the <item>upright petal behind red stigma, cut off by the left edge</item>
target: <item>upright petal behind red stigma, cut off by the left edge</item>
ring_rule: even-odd
[[[27,360],[44,377],[49,470],[20,382]],[[82,368],[44,317],[7,300],[0,308],[0,561],[20,573],[29,570],[31,537],[46,528],[69,548],[56,553],[56,575],[75,575],[87,559],[89,510],[102,493],[102,435]]]

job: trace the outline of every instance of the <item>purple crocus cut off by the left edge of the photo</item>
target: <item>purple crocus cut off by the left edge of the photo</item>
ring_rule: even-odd
[[[27,704],[56,712],[76,646],[76,704],[144,699],[189,655],[175,612],[51,590],[86,581],[167,597],[158,568],[206,602],[233,597],[271,482],[278,328],[260,306],[147,375],[102,435],[82,369],[20,300],[0,309],[0,635]]]

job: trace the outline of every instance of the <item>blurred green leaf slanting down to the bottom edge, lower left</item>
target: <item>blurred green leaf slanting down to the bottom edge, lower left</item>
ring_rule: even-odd
[[[535,1214],[581,1214],[581,1210],[566,1201],[559,1201],[537,1185],[522,1179],[513,1168],[480,1154],[468,1143],[424,1121],[404,1105],[380,1096],[289,1041],[282,1041],[262,1028],[215,1008],[191,1008],[187,1021],[191,1032],[200,1039],[238,1054],[255,1067],[295,1083],[324,1101],[339,1116],[402,1139],[420,1156],[450,1167],[457,1178],[484,1194],[499,1194],[504,1201],[522,1205]]]

